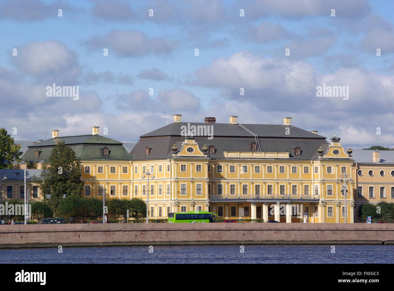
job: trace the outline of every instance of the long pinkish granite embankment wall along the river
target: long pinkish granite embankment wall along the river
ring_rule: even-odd
[[[0,248],[171,244],[394,244],[394,224],[2,225]]]

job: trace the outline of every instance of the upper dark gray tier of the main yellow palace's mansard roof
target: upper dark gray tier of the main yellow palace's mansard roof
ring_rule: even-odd
[[[182,126],[213,126],[214,136],[253,136],[250,132],[243,129],[239,124],[229,123],[196,123],[196,122],[181,122],[171,123],[160,127],[154,131],[141,135],[140,137],[148,136],[180,136]],[[244,127],[257,134],[259,137],[279,137],[279,138],[324,138],[324,136],[314,134],[310,131],[294,127],[292,125],[277,125],[277,124],[242,124]],[[286,134],[286,127],[290,128],[290,134]]]

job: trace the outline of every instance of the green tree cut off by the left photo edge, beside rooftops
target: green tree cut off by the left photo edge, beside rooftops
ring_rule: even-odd
[[[12,169],[13,162],[20,162],[19,156],[22,152],[19,146],[14,144],[14,138],[11,138],[4,127],[0,128],[0,169]]]

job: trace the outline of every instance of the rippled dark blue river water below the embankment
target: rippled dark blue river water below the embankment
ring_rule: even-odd
[[[119,246],[4,249],[0,263],[393,263],[394,245]],[[242,252],[243,250],[243,252]]]

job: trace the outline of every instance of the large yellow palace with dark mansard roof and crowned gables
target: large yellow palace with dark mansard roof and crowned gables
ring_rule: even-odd
[[[353,158],[340,138],[282,125],[174,122],[140,136],[132,149],[132,197],[146,199],[151,218],[206,210],[219,218],[280,222],[354,220]],[[350,175],[342,186],[339,178]],[[143,177],[145,176],[145,178]]]

